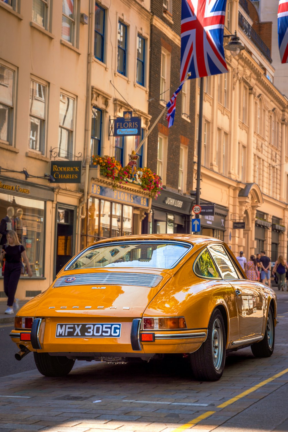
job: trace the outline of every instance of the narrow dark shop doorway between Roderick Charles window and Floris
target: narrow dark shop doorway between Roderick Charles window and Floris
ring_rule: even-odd
[[[57,206],[55,276],[75,255],[75,209]]]

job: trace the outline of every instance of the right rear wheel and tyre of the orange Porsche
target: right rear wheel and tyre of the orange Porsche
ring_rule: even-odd
[[[215,346],[215,342],[218,344]],[[225,366],[226,336],[221,312],[215,309],[208,325],[207,339],[190,354],[193,375],[200,381],[217,381]]]

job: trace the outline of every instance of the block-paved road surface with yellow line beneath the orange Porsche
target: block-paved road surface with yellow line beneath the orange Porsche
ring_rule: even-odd
[[[288,293],[280,297],[288,310]],[[217,382],[194,381],[185,360],[76,362],[66,378],[0,378],[0,432],[287,431],[288,312],[278,320],[272,357],[231,353]]]

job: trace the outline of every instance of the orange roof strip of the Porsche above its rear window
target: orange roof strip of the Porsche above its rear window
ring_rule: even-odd
[[[137,240],[166,240],[166,241],[187,241],[192,245],[205,245],[211,242],[217,241],[223,243],[222,240],[218,240],[214,237],[208,237],[207,235],[194,235],[194,234],[141,234],[141,235],[123,235],[121,237],[106,238],[99,241],[95,241],[94,245],[110,243],[111,241],[137,241]]]

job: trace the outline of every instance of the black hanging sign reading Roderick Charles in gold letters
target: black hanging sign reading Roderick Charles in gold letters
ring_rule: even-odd
[[[81,161],[51,161],[56,183],[81,183]]]

